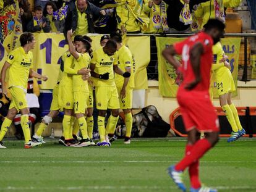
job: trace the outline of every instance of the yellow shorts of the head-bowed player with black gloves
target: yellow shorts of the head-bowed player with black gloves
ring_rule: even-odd
[[[96,86],[96,108],[99,110],[119,109],[116,86]]]

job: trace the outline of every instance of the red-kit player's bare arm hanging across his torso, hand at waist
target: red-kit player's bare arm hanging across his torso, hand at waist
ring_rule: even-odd
[[[200,59],[202,54],[203,45],[201,43],[195,44],[189,52],[190,63],[195,74],[195,80],[185,86],[187,90],[192,90],[201,81]]]

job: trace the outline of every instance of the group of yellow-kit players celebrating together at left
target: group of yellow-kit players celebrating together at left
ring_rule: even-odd
[[[32,148],[42,143],[42,133],[59,111],[64,111],[63,134],[59,143],[64,146],[111,146],[109,138],[113,138],[119,119],[119,109],[125,115],[126,137],[124,144],[130,144],[132,130],[132,90],[134,88],[135,64],[129,48],[122,44],[122,36],[113,32],[101,37],[101,48],[92,50],[92,39],[88,36],[75,35],[72,41],[72,30],[67,33],[69,51],[61,58],[58,83],[53,90],[53,101],[48,115],[43,117],[35,135],[30,137],[28,125],[28,108],[25,91],[28,74],[44,81],[48,79],[32,70],[32,52],[35,38],[32,33],[23,33],[26,43],[10,52],[1,77],[5,79],[6,69],[9,70],[9,90],[12,94],[11,106],[0,131],[0,148],[7,129],[11,126],[13,115],[22,113],[21,124],[25,138],[25,148]],[[21,54],[22,53],[22,54]],[[26,64],[23,65],[24,60]],[[19,75],[18,75],[19,73]],[[12,80],[12,78],[15,79]],[[6,87],[2,88],[6,93]],[[95,144],[93,137],[93,90],[95,90],[96,109],[98,109],[98,131],[100,141]],[[22,105],[20,105],[22,104]],[[105,128],[106,110],[111,115]],[[82,138],[79,139],[77,134]]]

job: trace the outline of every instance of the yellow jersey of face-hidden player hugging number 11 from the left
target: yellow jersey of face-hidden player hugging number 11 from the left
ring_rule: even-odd
[[[64,72],[62,73],[62,80],[59,83],[60,86],[72,86],[72,75],[77,74],[77,71],[74,70],[73,60],[74,57],[70,54],[69,51],[66,51],[62,57],[64,62]]]

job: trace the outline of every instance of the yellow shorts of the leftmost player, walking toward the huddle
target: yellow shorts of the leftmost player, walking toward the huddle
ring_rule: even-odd
[[[15,108],[19,112],[20,109],[24,109],[28,107],[27,99],[26,99],[26,93],[22,88],[12,86],[9,88],[12,101],[10,104],[9,109]]]

